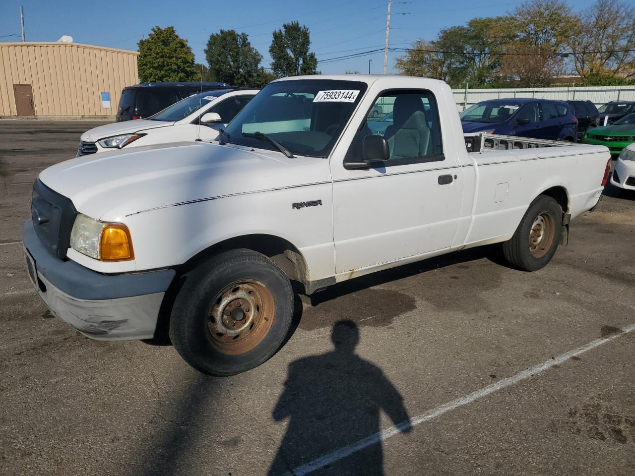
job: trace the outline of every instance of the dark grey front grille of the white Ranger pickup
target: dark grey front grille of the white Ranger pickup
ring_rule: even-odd
[[[70,199],[36,180],[31,196],[33,226],[46,248],[60,259],[66,258],[76,215],[77,210]]]

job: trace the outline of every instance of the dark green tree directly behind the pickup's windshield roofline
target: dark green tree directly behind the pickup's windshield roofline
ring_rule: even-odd
[[[282,30],[273,32],[269,53],[273,62],[271,69],[278,77],[300,74],[319,74],[318,58],[309,53],[309,29],[300,23],[284,23]]]

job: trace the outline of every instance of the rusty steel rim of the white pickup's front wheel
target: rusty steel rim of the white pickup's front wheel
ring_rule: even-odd
[[[262,282],[236,281],[220,291],[208,310],[211,347],[225,355],[240,355],[267,336],[275,319],[274,296]]]

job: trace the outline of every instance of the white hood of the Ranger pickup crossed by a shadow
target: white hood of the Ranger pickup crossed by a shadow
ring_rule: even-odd
[[[237,145],[177,142],[84,155],[39,175],[77,211],[106,221],[187,201],[330,180],[328,160]]]

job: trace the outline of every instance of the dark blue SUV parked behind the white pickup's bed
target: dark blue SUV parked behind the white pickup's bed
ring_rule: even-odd
[[[510,98],[474,104],[460,114],[464,133],[486,132],[575,142],[578,120],[564,101]]]

